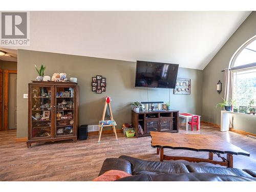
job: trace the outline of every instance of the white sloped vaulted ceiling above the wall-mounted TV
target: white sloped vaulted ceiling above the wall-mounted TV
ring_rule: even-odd
[[[250,11],[32,11],[30,46],[11,49],[170,62],[202,70],[249,14]]]

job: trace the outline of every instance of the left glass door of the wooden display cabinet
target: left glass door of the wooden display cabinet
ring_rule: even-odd
[[[52,89],[33,85],[31,90],[31,137],[51,137]]]

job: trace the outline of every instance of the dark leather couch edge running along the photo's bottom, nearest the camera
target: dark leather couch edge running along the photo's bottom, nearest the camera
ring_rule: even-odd
[[[256,181],[253,177],[238,177],[231,175],[185,173],[185,174],[143,174],[125,177],[117,181]]]

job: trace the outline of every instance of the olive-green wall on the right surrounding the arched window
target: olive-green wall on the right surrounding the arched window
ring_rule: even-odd
[[[256,35],[256,12],[253,11],[238,28],[236,32],[228,39],[226,44],[215,55],[203,70],[203,120],[215,124],[221,124],[220,108],[216,109],[216,104],[222,101],[224,97],[224,70],[228,68],[233,54],[249,38]],[[223,82],[223,91],[219,95],[216,91],[218,80]],[[246,117],[233,115],[234,129],[248,131],[256,134],[255,130],[256,116]]]

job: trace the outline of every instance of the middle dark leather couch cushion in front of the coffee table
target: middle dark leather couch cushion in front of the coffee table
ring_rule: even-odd
[[[155,173],[189,173],[188,169],[183,163],[172,162],[159,162],[159,161],[145,161],[129,156],[120,156],[120,159],[125,159],[132,164],[132,175],[136,175],[138,172],[147,171]]]

